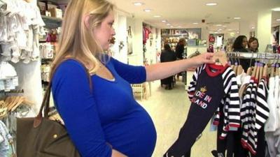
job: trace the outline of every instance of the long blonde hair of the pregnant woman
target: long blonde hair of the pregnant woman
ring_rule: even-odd
[[[59,37],[57,53],[52,63],[50,78],[57,66],[71,56],[87,66],[90,73],[96,73],[99,60],[104,60],[101,45],[93,37],[93,30],[102,24],[113,10],[113,4],[106,0],[71,0],[66,7],[62,21],[62,33]],[[89,28],[83,18],[88,15]],[[103,59],[102,59],[103,57]]]

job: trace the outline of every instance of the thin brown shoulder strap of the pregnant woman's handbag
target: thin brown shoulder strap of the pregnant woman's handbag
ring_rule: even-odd
[[[85,67],[84,63],[82,63],[78,59],[72,58],[72,57],[63,59],[62,62],[67,61],[69,59],[73,59],[73,60],[77,61],[78,63],[80,63],[83,66],[83,68],[85,68],[85,71],[87,72],[88,81],[90,83],[90,89],[92,91],[92,80],[90,78],[90,73],[87,70],[87,68]],[[38,112],[38,115],[34,119],[34,124],[33,124],[34,128],[37,128],[41,124],[41,121],[42,121],[43,117],[48,117],[48,112],[50,111],[50,92],[51,92],[51,88],[52,88],[52,80],[50,80],[50,82],[48,83],[48,87],[47,87],[47,90],[45,91],[40,110]],[[44,114],[43,114],[43,110],[44,110]]]

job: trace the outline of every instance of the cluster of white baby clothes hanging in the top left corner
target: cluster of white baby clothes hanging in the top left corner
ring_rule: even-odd
[[[37,6],[26,1],[1,0],[0,45],[5,61],[38,60],[38,33],[45,25]],[[3,5],[2,5],[3,6]]]

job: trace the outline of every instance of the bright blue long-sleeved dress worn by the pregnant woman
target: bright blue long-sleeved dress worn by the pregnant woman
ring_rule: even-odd
[[[145,68],[113,58],[106,67],[115,80],[92,75],[92,92],[78,61],[64,61],[55,72],[52,95],[71,140],[83,157],[111,157],[109,144],[127,156],[152,156],[155,126],[130,86],[146,81]]]

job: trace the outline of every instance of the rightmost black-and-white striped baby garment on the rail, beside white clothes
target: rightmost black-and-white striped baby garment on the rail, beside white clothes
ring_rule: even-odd
[[[265,137],[259,136],[258,133],[263,132],[263,126],[269,117],[267,82],[265,78],[262,78],[260,83],[257,83],[258,80],[252,77],[250,84],[246,88],[246,94],[241,105],[241,144],[253,155],[260,154],[260,152],[257,152],[258,144],[260,144],[258,140],[264,141]],[[262,143],[261,147],[263,145],[265,144]]]

